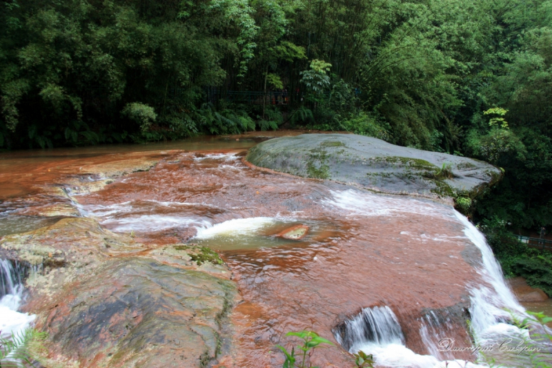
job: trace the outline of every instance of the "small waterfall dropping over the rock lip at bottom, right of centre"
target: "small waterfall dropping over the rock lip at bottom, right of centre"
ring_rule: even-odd
[[[404,345],[404,335],[391,308],[364,308],[352,318],[333,329],[335,340],[348,351],[357,352],[359,346],[368,344]]]

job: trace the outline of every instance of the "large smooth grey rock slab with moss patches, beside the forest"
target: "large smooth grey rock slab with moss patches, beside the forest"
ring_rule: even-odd
[[[395,146],[362,135],[304,134],[270,139],[251,148],[247,160],[282,173],[385,193],[442,197],[473,196],[502,177],[500,169],[486,162]],[[443,167],[452,175],[444,175]]]

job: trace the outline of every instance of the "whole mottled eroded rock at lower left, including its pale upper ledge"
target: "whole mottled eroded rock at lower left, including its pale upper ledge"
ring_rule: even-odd
[[[230,271],[197,247],[150,249],[73,217],[0,240],[0,255],[42,264],[26,311],[49,334],[46,367],[205,367],[228,349]]]

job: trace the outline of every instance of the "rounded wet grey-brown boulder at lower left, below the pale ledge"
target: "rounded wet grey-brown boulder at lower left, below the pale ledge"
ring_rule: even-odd
[[[146,258],[106,262],[29,307],[48,358],[77,367],[204,367],[221,354],[233,282]]]

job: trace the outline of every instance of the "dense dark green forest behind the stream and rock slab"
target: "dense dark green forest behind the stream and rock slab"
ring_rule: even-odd
[[[552,293],[550,256],[504,241],[552,224],[552,1],[1,8],[1,149],[284,125],[484,159],[504,179],[469,211],[506,273],[539,269],[533,284]]]

